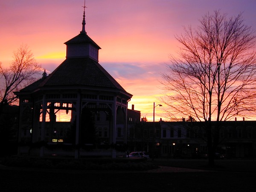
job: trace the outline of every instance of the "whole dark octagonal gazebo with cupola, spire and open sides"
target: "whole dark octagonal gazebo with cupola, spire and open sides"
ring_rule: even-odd
[[[85,31],[65,42],[66,59],[49,75],[15,92],[19,154],[109,155],[125,146],[132,95],[98,63],[101,49]],[[98,151],[96,151],[98,149]],[[104,152],[104,150],[105,152]],[[94,152],[92,152],[94,150]]]

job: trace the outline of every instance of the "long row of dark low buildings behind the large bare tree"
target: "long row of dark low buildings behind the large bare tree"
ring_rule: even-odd
[[[217,127],[212,122],[212,131]],[[205,122],[139,122],[134,139],[128,141],[134,151],[147,151],[155,157],[207,158]],[[254,158],[256,155],[256,121],[225,121],[218,128],[216,155],[224,158]],[[216,158],[221,158],[216,156]]]

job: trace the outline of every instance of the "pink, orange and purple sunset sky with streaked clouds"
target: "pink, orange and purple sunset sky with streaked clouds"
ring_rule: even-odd
[[[13,51],[27,44],[36,60],[51,73],[65,60],[64,42],[82,28],[84,0],[0,0],[0,62],[8,66]],[[160,73],[169,55],[179,50],[175,35],[183,26],[198,26],[207,12],[228,16],[243,13],[256,29],[256,0],[86,0],[87,35],[102,49],[99,64],[128,93],[129,102],[149,121],[161,96]],[[43,70],[42,70],[43,73]],[[165,119],[155,108],[155,120]]]

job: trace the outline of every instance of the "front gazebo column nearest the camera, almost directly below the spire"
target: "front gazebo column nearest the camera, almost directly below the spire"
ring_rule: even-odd
[[[75,149],[75,159],[79,158],[79,132],[80,132],[80,117],[81,117],[81,93],[77,93],[77,100],[76,100],[76,149]]]

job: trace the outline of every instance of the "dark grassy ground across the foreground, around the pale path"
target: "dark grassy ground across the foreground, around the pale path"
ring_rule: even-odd
[[[195,172],[0,169],[0,192],[256,192],[256,161],[154,160]]]

